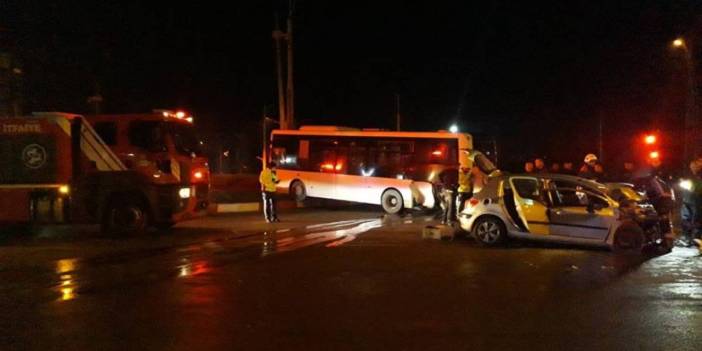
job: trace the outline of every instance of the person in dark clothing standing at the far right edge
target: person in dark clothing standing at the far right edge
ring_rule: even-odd
[[[683,204],[680,208],[682,219],[681,246],[692,247],[695,239],[700,239],[700,222],[702,222],[702,159],[690,162],[692,177],[684,186]]]

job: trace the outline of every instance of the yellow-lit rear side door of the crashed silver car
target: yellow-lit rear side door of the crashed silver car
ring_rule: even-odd
[[[542,182],[536,177],[516,176],[511,177],[509,183],[523,229],[535,235],[550,234],[548,206]]]

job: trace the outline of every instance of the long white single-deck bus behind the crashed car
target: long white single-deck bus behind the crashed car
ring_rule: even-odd
[[[435,207],[440,175],[470,168],[472,149],[464,133],[306,126],[274,130],[267,154],[278,165],[278,191],[297,201],[351,201],[398,213]]]

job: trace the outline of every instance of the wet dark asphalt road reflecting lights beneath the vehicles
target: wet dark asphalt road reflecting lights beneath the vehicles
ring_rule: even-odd
[[[375,209],[0,241],[0,350],[695,350],[702,258],[469,239]]]

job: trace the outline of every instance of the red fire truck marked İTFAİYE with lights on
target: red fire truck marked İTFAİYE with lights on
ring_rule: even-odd
[[[0,119],[0,223],[99,223],[108,233],[203,215],[209,166],[183,112]]]

